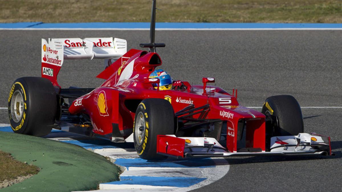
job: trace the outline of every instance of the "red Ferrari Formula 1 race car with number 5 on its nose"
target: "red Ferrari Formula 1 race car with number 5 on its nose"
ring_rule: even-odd
[[[303,133],[297,100],[290,95],[265,100],[262,111],[240,106],[237,90],[228,93],[208,85],[183,81],[162,90],[163,79],[151,78],[162,64],[155,43],[153,0],[149,51],[127,51],[119,38],[42,39],[41,77],[15,80],[8,114],[15,133],[44,136],[52,128],[134,142],[139,156],[331,155],[330,137]],[[97,88],[61,88],[57,75],[64,60],[105,59]]]

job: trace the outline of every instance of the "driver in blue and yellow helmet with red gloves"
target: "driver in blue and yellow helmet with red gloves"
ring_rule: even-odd
[[[157,78],[159,79],[159,90],[185,90],[186,86],[182,83],[182,81],[172,81],[169,73],[162,69],[157,69],[153,71],[148,78]],[[152,86],[157,89],[158,85],[153,83]]]

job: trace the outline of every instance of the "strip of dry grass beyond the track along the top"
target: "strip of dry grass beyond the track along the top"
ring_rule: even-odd
[[[149,22],[151,0],[0,0],[0,22]],[[341,0],[157,0],[157,22],[342,23]]]

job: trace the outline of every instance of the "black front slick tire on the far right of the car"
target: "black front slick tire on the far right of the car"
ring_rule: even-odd
[[[298,135],[304,132],[301,108],[291,95],[268,97],[262,107],[262,113],[266,115],[266,120],[273,116],[273,123],[266,123],[266,134],[268,132],[271,137]]]

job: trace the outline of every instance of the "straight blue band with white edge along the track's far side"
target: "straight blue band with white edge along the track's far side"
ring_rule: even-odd
[[[150,23],[0,23],[1,30],[149,30]],[[156,30],[342,30],[341,23],[156,23]]]

